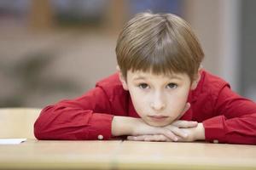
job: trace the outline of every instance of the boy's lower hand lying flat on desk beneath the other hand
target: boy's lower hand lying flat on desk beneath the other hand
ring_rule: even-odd
[[[178,136],[177,141],[179,142],[191,142],[195,140],[205,139],[205,131],[202,123],[198,123],[197,127],[185,127],[185,128],[180,128],[180,130],[183,130],[183,132],[186,133],[187,136],[185,137]],[[165,141],[165,142],[173,141],[172,139],[169,139],[168,137],[162,134],[128,136],[127,139],[136,140],[136,141]]]

